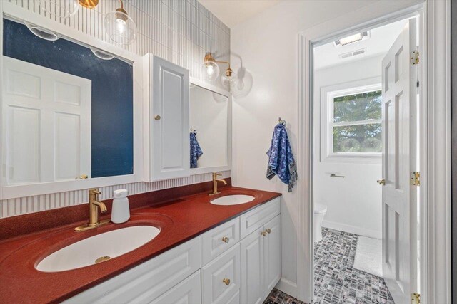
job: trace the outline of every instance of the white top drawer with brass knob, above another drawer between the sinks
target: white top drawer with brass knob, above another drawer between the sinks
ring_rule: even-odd
[[[240,241],[240,219],[233,219],[201,235],[201,265],[205,266],[216,256]]]

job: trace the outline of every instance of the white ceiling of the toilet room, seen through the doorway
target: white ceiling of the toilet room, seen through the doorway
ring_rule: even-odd
[[[333,42],[314,48],[314,68],[329,68],[367,57],[386,54],[392,46],[408,20],[396,21],[371,30],[371,38],[350,43],[346,46],[336,47]],[[341,37],[343,38],[343,37]],[[340,54],[349,53],[366,48],[366,53],[348,58],[340,58]]]

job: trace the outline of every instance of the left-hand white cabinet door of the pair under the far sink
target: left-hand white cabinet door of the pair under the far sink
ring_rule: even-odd
[[[262,303],[263,288],[263,227],[241,241],[241,303]]]

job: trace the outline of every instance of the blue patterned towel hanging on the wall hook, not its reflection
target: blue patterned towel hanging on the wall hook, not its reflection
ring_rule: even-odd
[[[274,127],[271,146],[266,154],[268,155],[266,178],[272,179],[278,175],[284,184],[288,184],[288,192],[292,192],[297,181],[297,165],[288,142],[286,125],[278,123]]]

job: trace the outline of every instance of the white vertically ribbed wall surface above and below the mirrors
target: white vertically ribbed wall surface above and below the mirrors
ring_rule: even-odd
[[[103,30],[103,16],[106,12],[114,11],[119,7],[117,0],[101,0],[96,9],[89,10],[80,6],[77,14],[71,19],[57,19],[41,11],[38,0],[8,1],[33,11],[43,18],[63,23],[106,42],[110,41]],[[197,0],[124,0],[124,9],[134,19],[139,29],[134,43],[125,47],[133,53],[141,56],[154,53],[156,56],[189,69],[190,75],[200,80],[205,80],[201,71],[201,62],[207,51],[211,51],[222,61],[229,61],[230,28]],[[219,82],[215,82],[214,85],[221,86]],[[222,173],[224,178],[231,175],[230,171]],[[128,189],[129,194],[139,194],[209,180],[211,180],[211,174],[199,174],[161,182],[138,182],[102,187],[101,199],[111,198],[116,189]],[[5,199],[0,201],[0,218],[84,204],[86,201],[86,190]]]

